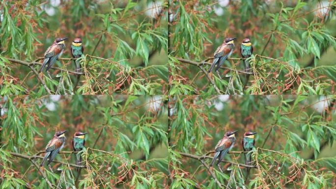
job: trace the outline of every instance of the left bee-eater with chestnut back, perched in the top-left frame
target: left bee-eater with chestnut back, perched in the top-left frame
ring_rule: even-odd
[[[50,67],[56,62],[56,60],[63,54],[63,50],[65,49],[64,40],[68,37],[64,38],[56,38],[54,43],[48,47],[47,51],[44,53],[44,61],[42,63],[41,69],[38,72],[41,72],[44,66],[47,66],[46,71],[50,69]]]

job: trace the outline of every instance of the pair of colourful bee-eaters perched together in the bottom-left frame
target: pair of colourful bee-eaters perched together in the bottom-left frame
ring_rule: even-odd
[[[55,158],[56,154],[63,148],[66,137],[65,133],[68,130],[64,131],[57,131],[54,135],[54,137],[48,142],[46,146],[46,154],[44,155],[44,158],[40,164],[40,167],[44,165],[44,162],[47,158],[48,160],[48,166]],[[74,148],[75,152],[82,151],[85,145],[85,134],[86,132],[75,132],[72,139],[72,147]],[[81,165],[82,157],[80,154],[76,154],[76,165]],[[79,169],[77,169],[79,170]]]

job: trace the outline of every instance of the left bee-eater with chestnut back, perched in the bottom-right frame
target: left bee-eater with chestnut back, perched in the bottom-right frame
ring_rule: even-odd
[[[217,166],[218,168],[222,171],[221,167],[219,166],[220,162],[222,161],[222,159],[224,158],[225,154],[227,154],[227,152],[229,150],[231,150],[231,148],[233,147],[234,143],[236,142],[236,137],[234,136],[234,133],[238,132],[238,130],[236,131],[228,131],[224,134],[224,137],[218,141],[216,147],[215,147],[215,156],[211,161],[210,167],[214,164],[214,162],[216,161],[216,159],[218,158],[217,161]]]

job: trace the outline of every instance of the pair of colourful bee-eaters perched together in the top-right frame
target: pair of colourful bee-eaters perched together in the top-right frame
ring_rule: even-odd
[[[233,38],[225,38],[222,45],[220,45],[217,50],[214,53],[214,59],[212,61],[212,64],[210,66],[210,69],[208,71],[208,74],[211,72],[211,70],[213,69],[213,67],[217,64],[216,67],[216,72],[219,76],[219,78],[222,79],[222,77],[219,74],[219,68],[221,67],[221,65],[224,63],[224,61],[232,54],[235,46],[234,46],[234,42],[233,40],[236,37]],[[253,47],[252,47],[252,43],[250,41],[249,38],[245,38],[243,39],[241,45],[240,45],[240,54],[242,55],[242,57],[244,58],[244,70],[245,72],[249,72],[250,69],[250,63],[246,61],[246,58],[251,57],[253,53]],[[249,75],[247,75],[248,78]]]

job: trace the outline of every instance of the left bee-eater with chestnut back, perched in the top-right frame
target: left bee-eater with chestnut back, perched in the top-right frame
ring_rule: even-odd
[[[236,37],[225,38],[222,45],[220,45],[217,48],[216,52],[214,53],[214,60],[212,61],[212,64],[211,64],[211,67],[210,67],[208,73],[210,73],[212,68],[217,64],[216,72],[217,72],[218,76],[221,78],[218,70],[221,67],[221,65],[224,63],[224,61],[232,54],[232,52],[234,50],[234,47],[235,47],[234,42],[233,42],[233,40],[235,38]]]

